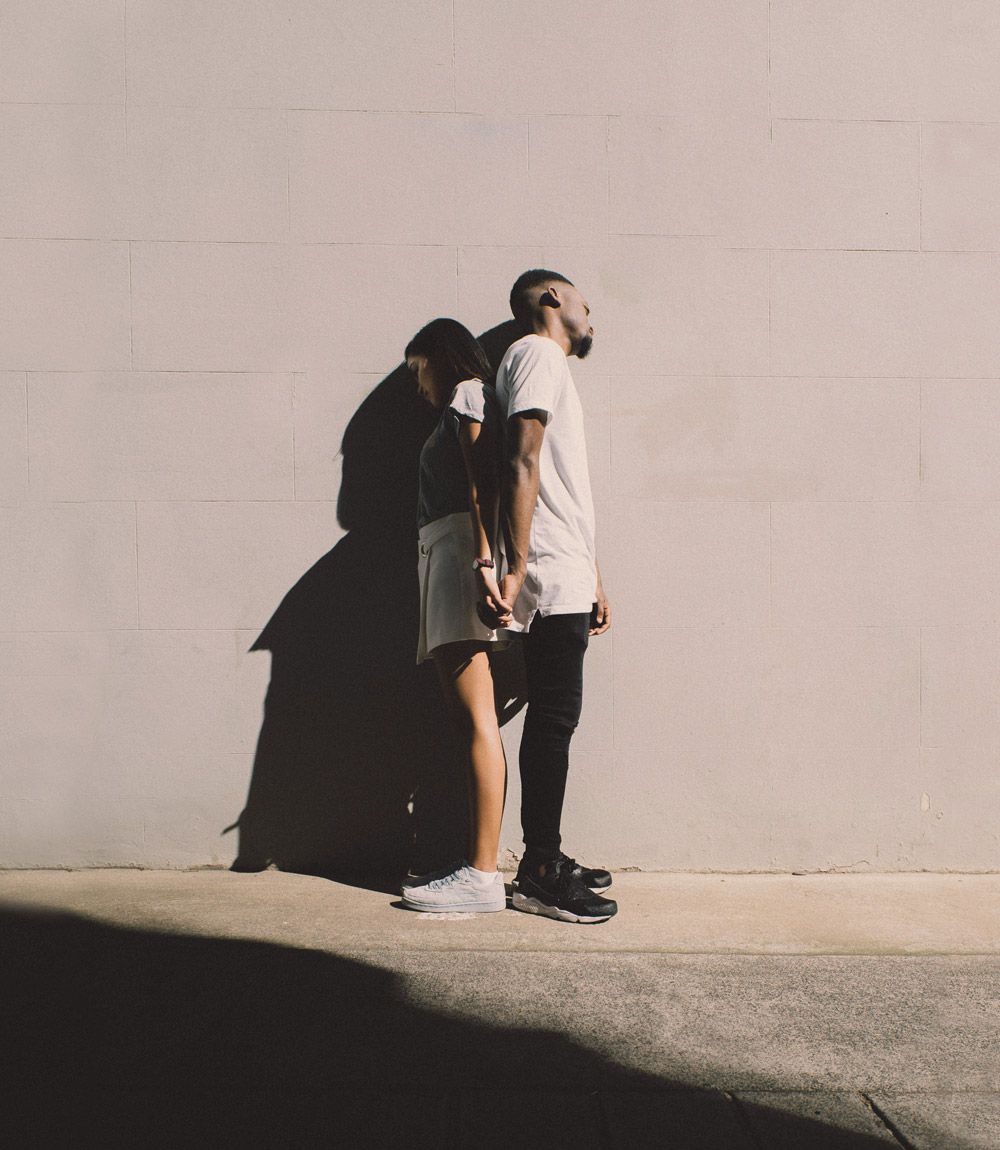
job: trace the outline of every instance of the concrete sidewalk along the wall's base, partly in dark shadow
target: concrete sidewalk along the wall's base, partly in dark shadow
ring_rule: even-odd
[[[2,1144],[1000,1148],[1000,875],[613,892],[580,927],[277,872],[0,874]]]

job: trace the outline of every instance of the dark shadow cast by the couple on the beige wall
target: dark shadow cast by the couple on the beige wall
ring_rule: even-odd
[[[482,337],[493,365],[514,338],[513,323]],[[347,534],[251,647],[271,652],[271,680],[233,825],[236,871],[391,883],[466,852],[466,783],[440,688],[432,665],[415,662],[417,465],[437,417],[400,366],[347,424],[337,501]],[[517,644],[493,670],[505,722],[523,705]]]

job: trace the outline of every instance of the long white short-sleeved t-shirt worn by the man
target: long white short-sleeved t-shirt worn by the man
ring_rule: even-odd
[[[567,615],[594,604],[594,503],[583,407],[567,358],[547,336],[510,345],[497,371],[497,396],[508,420],[518,412],[545,413],[528,574],[511,628],[525,630],[536,611]]]

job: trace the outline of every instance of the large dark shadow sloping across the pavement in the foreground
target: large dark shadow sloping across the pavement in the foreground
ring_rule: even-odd
[[[460,983],[430,1009],[320,951],[8,908],[0,972],[9,1150],[886,1145],[459,1017]]]

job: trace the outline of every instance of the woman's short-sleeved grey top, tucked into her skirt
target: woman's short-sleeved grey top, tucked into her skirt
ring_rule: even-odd
[[[421,451],[421,490],[417,529],[445,515],[469,509],[469,476],[459,428],[462,420],[482,423],[494,432],[498,467],[503,451],[503,415],[493,388],[466,379],[452,392],[438,425]]]

